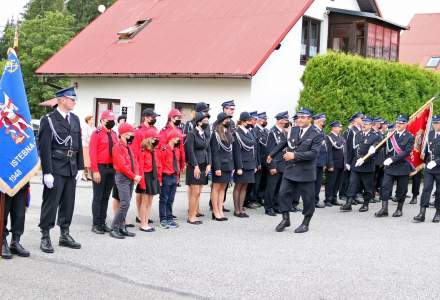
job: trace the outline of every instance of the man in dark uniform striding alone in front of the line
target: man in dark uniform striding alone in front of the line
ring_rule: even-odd
[[[286,169],[283,173],[279,193],[280,211],[283,219],[276,227],[277,232],[284,231],[290,226],[290,210],[292,199],[298,194],[303,202],[304,219],[301,225],[295,229],[295,233],[303,233],[309,230],[310,220],[315,211],[315,181],[316,181],[316,160],[323,135],[312,126],[312,112],[302,108],[297,113],[297,127],[292,127],[287,135],[287,142],[280,143],[271,153],[275,157],[285,149],[283,159],[286,161]],[[270,159],[268,161],[270,163]],[[294,206],[298,203],[293,203]]]

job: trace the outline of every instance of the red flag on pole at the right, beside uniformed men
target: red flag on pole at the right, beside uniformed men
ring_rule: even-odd
[[[426,139],[431,128],[432,101],[417,112],[408,123],[407,130],[414,136],[414,147],[409,157],[409,162],[418,171],[423,164]]]

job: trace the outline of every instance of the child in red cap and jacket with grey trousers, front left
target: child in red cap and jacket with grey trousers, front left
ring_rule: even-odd
[[[115,183],[118,187],[120,205],[112,223],[110,236],[123,239],[126,236],[133,237],[134,233],[127,231],[125,217],[130,208],[133,184],[141,181],[139,164],[129,145],[133,142],[134,128],[130,124],[119,127],[119,143],[113,146],[112,157],[115,169]]]

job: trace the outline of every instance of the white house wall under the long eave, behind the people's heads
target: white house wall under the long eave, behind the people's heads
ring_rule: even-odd
[[[127,121],[139,124],[141,103],[155,104],[158,128],[167,119],[174,102],[207,102],[211,120],[221,111],[221,103],[234,99],[241,107],[251,108],[249,79],[176,79],[176,78],[78,78],[75,107],[81,119],[96,110],[96,98],[120,99],[128,108]],[[238,115],[237,115],[238,118]]]

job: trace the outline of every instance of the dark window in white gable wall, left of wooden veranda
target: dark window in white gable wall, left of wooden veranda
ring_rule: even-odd
[[[302,65],[305,65],[309,58],[318,55],[320,31],[321,21],[303,17],[300,57]]]

